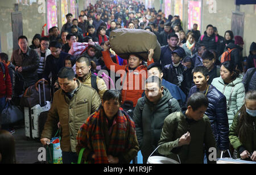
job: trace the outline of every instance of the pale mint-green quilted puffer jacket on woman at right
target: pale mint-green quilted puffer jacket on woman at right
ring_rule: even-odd
[[[243,85],[242,81],[243,81],[242,75],[238,76],[236,80],[234,80],[233,82],[230,82],[230,84],[228,85],[225,85],[221,77],[214,78],[212,81],[212,85],[215,86],[226,97],[229,127],[233,122],[234,115],[236,115],[237,111],[241,109],[244,103],[243,101],[245,99],[245,86]],[[230,98],[232,89],[233,89],[233,92],[232,92],[231,102],[229,105],[229,98]]]

